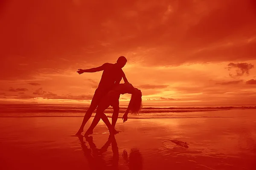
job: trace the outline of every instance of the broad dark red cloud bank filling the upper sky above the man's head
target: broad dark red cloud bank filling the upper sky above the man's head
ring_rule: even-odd
[[[0,71],[9,71],[0,79],[30,79],[45,74],[42,69],[76,71],[115,62],[120,55],[144,65],[239,61],[256,55],[252,0],[79,2],[6,2],[0,17],[5,42]],[[20,22],[23,18],[26,22]],[[16,23],[20,29],[13,34]]]

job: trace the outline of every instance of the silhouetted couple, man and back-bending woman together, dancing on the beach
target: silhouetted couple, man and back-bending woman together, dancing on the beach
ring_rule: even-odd
[[[130,111],[132,114],[137,114],[142,108],[141,91],[134,88],[134,86],[128,82],[125,77],[125,73],[122,71],[126,62],[127,59],[124,56],[121,56],[117,59],[115,64],[106,62],[96,68],[78,69],[79,71],[77,71],[77,73],[79,74],[94,73],[98,71],[103,71],[103,73],[98,88],[95,90],[93,95],[90,107],[86,111],[81,127],[76,133],[77,136],[81,136],[81,133],[84,131],[85,124],[90,119],[96,108],[96,115],[84,136],[93,134],[93,129],[99,123],[100,119],[102,119],[102,121],[107,125],[110,135],[118,133],[115,129],[115,125],[119,115],[119,97],[121,94],[131,94],[128,108],[122,116],[123,122],[127,121],[128,113]],[[120,84],[122,79],[125,83]],[[112,124],[104,113],[109,106],[113,107]]]

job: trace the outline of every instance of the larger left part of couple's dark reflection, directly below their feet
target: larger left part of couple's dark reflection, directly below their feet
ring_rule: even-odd
[[[84,137],[79,136],[81,147],[84,151],[84,156],[88,159],[88,164],[91,170],[117,170],[119,161],[119,152],[115,136],[109,136],[108,141],[99,149],[93,142],[93,136],[85,137],[90,147],[87,147],[84,142]],[[105,162],[104,154],[111,145],[113,156],[110,162]]]

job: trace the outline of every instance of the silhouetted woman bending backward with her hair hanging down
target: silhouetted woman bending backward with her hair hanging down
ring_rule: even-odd
[[[85,132],[84,136],[88,136],[93,133],[93,129],[99,123],[100,119],[102,119],[103,122],[108,126],[108,130],[110,134],[117,133],[117,131],[115,130],[115,125],[116,125],[116,121],[119,114],[119,97],[120,97],[120,94],[126,94],[126,93],[132,94],[132,95],[131,95],[131,100],[129,102],[128,108],[122,117],[123,122],[127,121],[129,111],[131,111],[132,114],[137,114],[140,111],[140,109],[142,108],[141,91],[137,88],[134,88],[133,85],[131,85],[130,83],[116,85],[116,87],[113,90],[109,91],[108,94],[106,94],[102,98],[101,102],[97,107],[96,115],[93,119],[93,122],[88,128],[88,130]],[[113,107],[112,125],[109,122],[108,117],[104,113],[104,111],[109,106]]]

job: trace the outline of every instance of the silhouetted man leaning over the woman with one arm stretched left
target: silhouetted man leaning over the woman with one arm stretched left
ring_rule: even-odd
[[[93,99],[91,101],[90,107],[86,111],[84,115],[84,119],[82,122],[82,125],[76,135],[81,135],[81,133],[84,131],[84,125],[86,122],[90,119],[90,117],[93,114],[93,111],[97,108],[100,100],[102,99],[105,94],[107,94],[115,85],[118,85],[122,78],[124,79],[124,82],[128,82],[128,80],[125,77],[125,73],[122,71],[122,68],[125,66],[127,62],[127,59],[124,56],[121,56],[117,59],[115,64],[106,62],[102,66],[96,67],[96,68],[90,68],[90,69],[78,69],[77,71],[79,74],[82,73],[94,73],[97,71],[103,71],[102,78],[99,82],[98,88],[96,89]]]

